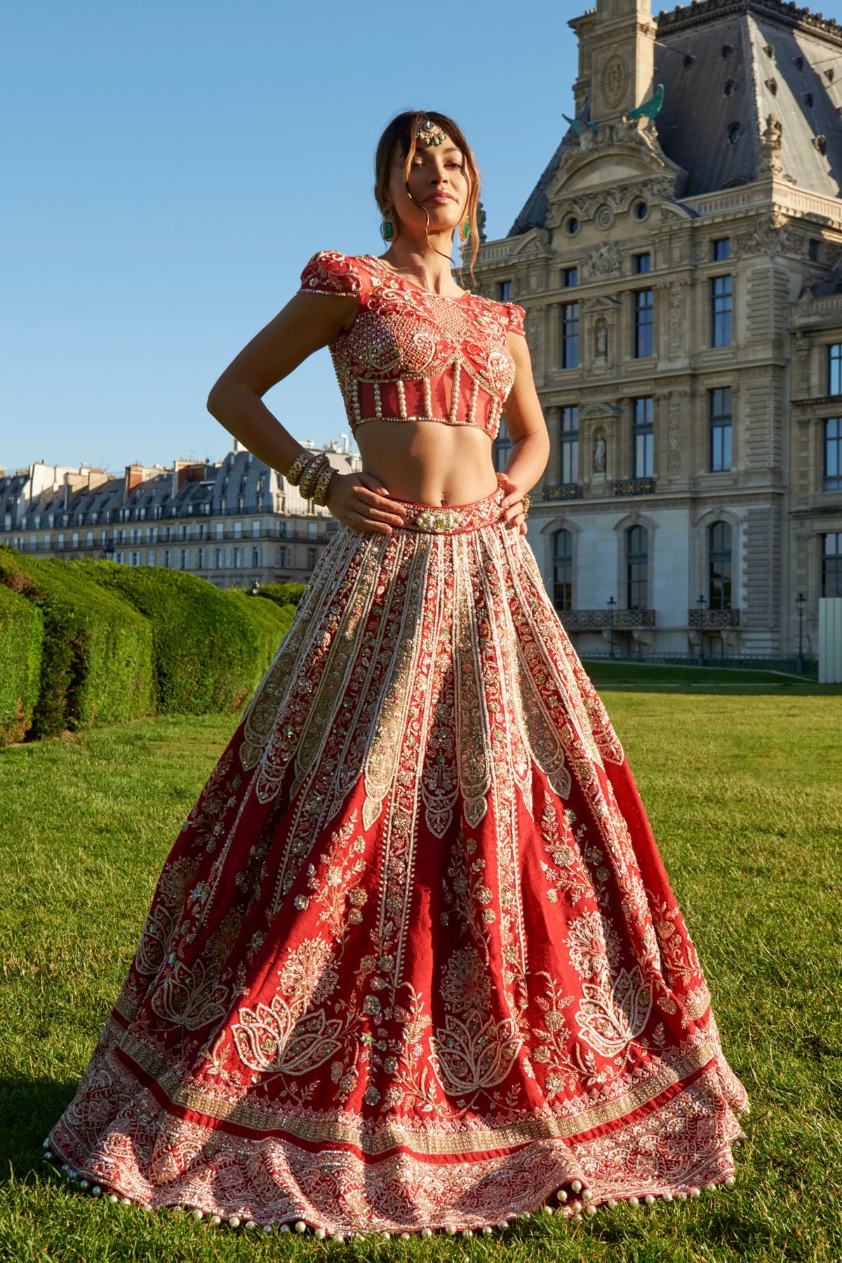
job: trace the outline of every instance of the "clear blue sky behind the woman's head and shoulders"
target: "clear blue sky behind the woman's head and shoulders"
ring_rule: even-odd
[[[314,250],[382,249],[372,153],[398,110],[461,123],[504,236],[572,112],[584,8],[6,5],[0,465],[227,451],[220,371]],[[299,440],[347,432],[327,351],[266,403]]]

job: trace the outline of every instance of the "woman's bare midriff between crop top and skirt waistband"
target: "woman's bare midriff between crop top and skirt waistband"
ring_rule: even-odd
[[[395,500],[471,504],[497,488],[491,440],[476,426],[367,421],[355,437],[364,472]]]

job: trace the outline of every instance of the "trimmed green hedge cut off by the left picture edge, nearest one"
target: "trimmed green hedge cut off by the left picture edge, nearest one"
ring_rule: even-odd
[[[44,616],[0,584],[0,745],[23,741],[38,701]]]

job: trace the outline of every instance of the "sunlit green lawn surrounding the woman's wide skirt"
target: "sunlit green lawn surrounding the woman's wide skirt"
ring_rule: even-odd
[[[5,751],[0,1258],[838,1263],[842,702],[812,693],[606,695],[751,1096],[736,1188],[582,1224],[535,1216],[470,1243],[255,1240],[181,1212],[110,1207],[45,1170],[40,1142],[74,1090],[160,864],[232,720],[146,720]]]

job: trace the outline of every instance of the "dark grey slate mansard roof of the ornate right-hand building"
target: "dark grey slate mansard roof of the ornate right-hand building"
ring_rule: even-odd
[[[781,126],[783,177],[842,196],[842,25],[784,0],[702,0],[655,20],[654,82],[665,88],[655,128],[687,172],[683,196],[757,179],[769,115]],[[547,226],[547,189],[576,143],[571,129],[509,236]]]

